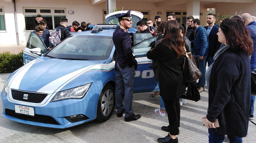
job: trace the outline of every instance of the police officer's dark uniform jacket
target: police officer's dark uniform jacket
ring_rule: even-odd
[[[126,65],[135,66],[137,69],[137,61],[133,57],[131,50],[131,38],[129,33],[120,26],[113,33],[113,42],[116,47],[116,64],[118,62],[120,68],[124,69]]]

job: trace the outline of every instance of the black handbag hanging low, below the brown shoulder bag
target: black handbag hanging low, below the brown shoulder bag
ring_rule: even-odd
[[[195,84],[193,82],[187,83],[186,92],[180,97],[183,99],[188,99],[192,101],[199,101],[201,99],[200,93],[198,92]]]

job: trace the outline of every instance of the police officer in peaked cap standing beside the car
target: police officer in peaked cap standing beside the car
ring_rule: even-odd
[[[137,61],[131,50],[131,38],[127,30],[131,28],[131,11],[116,16],[120,26],[113,33],[113,42],[116,47],[116,108],[117,117],[125,113],[125,121],[137,120],[141,116],[133,113],[133,81]],[[122,104],[122,92],[125,87],[125,104]]]

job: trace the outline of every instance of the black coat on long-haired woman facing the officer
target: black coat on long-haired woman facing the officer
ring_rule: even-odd
[[[173,49],[168,48],[163,42],[148,51],[148,59],[156,60],[159,64],[159,86],[162,99],[173,100],[185,93],[185,80],[182,65],[185,56],[177,59]]]

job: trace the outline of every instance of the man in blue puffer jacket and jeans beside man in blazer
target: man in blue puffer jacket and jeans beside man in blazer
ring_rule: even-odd
[[[206,58],[209,52],[209,39],[207,36],[207,31],[204,27],[200,26],[200,20],[194,19],[192,22],[192,27],[195,30],[195,38],[194,38],[194,56],[196,57],[199,70],[202,73],[202,77],[199,79],[198,84],[200,87],[198,88],[199,92],[203,92],[205,85],[205,72],[206,72]]]

